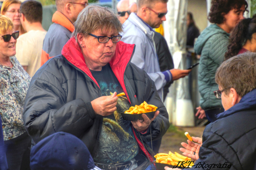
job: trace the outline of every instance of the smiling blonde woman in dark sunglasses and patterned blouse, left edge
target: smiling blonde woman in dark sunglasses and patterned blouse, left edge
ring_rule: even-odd
[[[22,121],[30,77],[15,57],[19,32],[0,15],[0,113],[9,169],[30,169],[31,138]]]

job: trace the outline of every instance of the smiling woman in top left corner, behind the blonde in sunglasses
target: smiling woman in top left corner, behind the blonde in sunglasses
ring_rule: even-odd
[[[11,19],[14,26],[14,31],[19,31],[19,35],[25,33],[21,25],[21,14],[19,13],[21,1],[19,0],[5,0],[2,4],[1,14]]]

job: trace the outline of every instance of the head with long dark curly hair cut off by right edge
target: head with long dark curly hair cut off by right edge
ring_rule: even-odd
[[[256,52],[256,15],[240,21],[230,34],[230,44],[225,53],[229,59],[244,52]]]

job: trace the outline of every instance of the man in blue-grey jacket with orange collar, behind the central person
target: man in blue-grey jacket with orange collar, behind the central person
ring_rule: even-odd
[[[57,11],[52,16],[53,24],[43,41],[41,66],[48,59],[61,54],[63,46],[75,29],[73,23],[87,4],[88,0],[56,0]]]

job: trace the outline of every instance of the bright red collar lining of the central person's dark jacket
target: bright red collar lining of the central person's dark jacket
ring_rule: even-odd
[[[127,98],[130,101],[129,96],[127,95],[125,83],[124,83],[124,73],[127,64],[130,62],[132,54],[135,49],[135,44],[126,44],[122,41],[116,44],[116,51],[111,61],[109,62],[112,71],[114,72],[116,78],[121,84],[122,89],[124,90]],[[99,84],[92,76],[90,69],[86,66],[85,58],[83,57],[82,51],[75,38],[72,37],[65,44],[62,49],[62,56],[67,59],[68,62],[73,64],[73,66],[81,69],[81,71],[85,72],[87,76],[89,76],[93,82],[97,84],[100,88]]]

